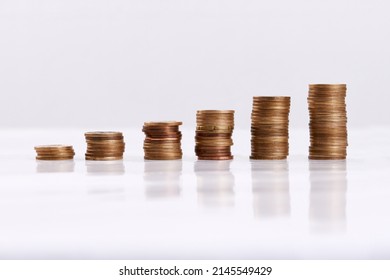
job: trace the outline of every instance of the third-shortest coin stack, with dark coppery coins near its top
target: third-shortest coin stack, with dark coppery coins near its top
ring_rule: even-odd
[[[142,131],[145,133],[145,159],[175,160],[183,156],[181,150],[182,122],[145,122]]]

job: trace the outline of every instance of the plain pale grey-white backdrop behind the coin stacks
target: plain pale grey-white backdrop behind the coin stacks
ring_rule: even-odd
[[[193,125],[198,109],[348,84],[350,126],[389,124],[389,1],[0,0],[0,126]]]

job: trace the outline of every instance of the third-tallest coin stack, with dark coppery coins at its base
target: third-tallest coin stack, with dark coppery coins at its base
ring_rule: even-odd
[[[196,113],[195,153],[199,160],[233,159],[234,110],[201,110]]]

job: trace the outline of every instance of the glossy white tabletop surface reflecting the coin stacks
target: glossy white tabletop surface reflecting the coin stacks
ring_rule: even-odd
[[[346,161],[309,161],[292,130],[287,161],[86,162],[83,130],[3,131],[1,259],[389,259],[390,129],[350,130]],[[37,162],[34,145],[73,144],[74,161]]]

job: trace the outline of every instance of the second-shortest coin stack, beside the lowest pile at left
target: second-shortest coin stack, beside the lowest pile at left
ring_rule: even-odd
[[[122,132],[86,132],[86,160],[121,160],[125,151]]]

